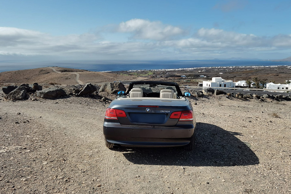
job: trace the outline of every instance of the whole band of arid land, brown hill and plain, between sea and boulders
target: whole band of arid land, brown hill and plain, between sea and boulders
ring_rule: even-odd
[[[54,71],[55,70],[55,71]],[[59,73],[57,73],[59,72]],[[61,72],[61,73],[60,73]],[[192,70],[145,70],[145,71],[116,71],[116,72],[94,72],[79,69],[47,67],[33,70],[18,70],[0,72],[1,83],[54,83],[54,84],[102,84],[113,81],[129,80],[163,80],[174,81],[180,85],[197,86],[198,82],[211,80],[212,77],[222,77],[225,80],[247,80],[252,77],[267,79],[267,82],[274,80],[275,83],[284,83],[291,79],[291,67],[217,67],[217,68],[196,68]],[[183,78],[181,75],[185,75]],[[205,77],[200,77],[204,75]],[[79,82],[79,83],[80,83]]]

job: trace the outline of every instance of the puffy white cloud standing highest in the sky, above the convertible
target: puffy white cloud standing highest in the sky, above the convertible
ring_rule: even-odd
[[[119,32],[132,32],[135,39],[163,40],[171,36],[184,33],[181,28],[164,25],[160,21],[149,21],[143,19],[131,19],[121,22],[118,27]]]

